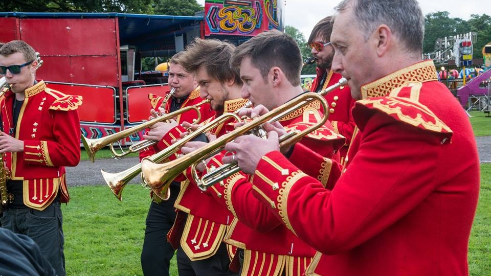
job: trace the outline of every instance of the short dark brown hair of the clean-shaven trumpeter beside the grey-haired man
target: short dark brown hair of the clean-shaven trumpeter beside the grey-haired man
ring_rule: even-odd
[[[235,49],[232,65],[239,67],[246,57],[259,69],[265,81],[270,69],[278,66],[293,86],[300,85],[302,54],[291,36],[278,30],[260,33]]]

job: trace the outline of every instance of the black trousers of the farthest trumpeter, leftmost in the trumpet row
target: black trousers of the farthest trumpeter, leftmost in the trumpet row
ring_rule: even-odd
[[[179,189],[179,186],[172,183],[169,200],[159,204],[153,201],[150,203],[141,255],[145,276],[169,275],[169,265],[174,256],[174,248],[167,242],[167,233],[174,224],[176,215],[174,202]]]

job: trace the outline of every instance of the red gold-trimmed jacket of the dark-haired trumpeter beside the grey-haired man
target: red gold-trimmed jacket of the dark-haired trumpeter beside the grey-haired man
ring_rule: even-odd
[[[282,118],[280,123],[288,131],[301,131],[319,122],[321,117],[320,105],[314,102],[299,112]],[[321,155],[339,161],[337,149],[344,145],[345,139],[334,132],[329,123],[327,124],[303,137],[301,143]],[[289,160],[320,181],[325,181],[329,175],[328,170],[319,169],[317,166],[303,166],[307,164],[304,160],[308,155],[305,154],[310,152],[302,151],[301,148],[297,150],[295,147]],[[222,156],[212,158],[207,167],[221,166]],[[324,165],[329,161],[330,159],[326,158]],[[311,171],[310,168],[317,170]],[[253,195],[253,187],[249,181],[248,175],[237,173],[212,187],[218,190],[220,196],[211,193],[222,204],[226,204],[235,216],[225,242],[244,249],[241,275],[278,276],[284,272],[287,276],[301,276],[316,250],[290,232],[281,220],[259,202]]]

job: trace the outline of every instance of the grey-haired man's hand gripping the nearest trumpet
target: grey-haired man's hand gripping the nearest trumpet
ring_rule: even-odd
[[[224,163],[236,162],[242,172],[254,174],[259,160],[262,156],[271,151],[279,150],[278,133],[276,131],[267,132],[267,140],[255,135],[243,135],[225,145],[225,150],[235,152],[222,158]]]

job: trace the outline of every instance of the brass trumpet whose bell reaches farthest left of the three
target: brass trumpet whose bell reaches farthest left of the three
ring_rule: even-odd
[[[113,152],[114,158],[119,159],[125,155],[130,154],[130,153],[135,153],[135,152],[138,152],[138,151],[143,150],[145,148],[148,148],[150,146],[153,146],[153,145],[159,143],[159,141],[143,140],[139,143],[136,143],[136,144],[129,146],[126,151],[121,151],[121,153],[117,152],[116,149],[114,148],[114,144],[116,142],[120,141],[121,139],[124,139],[125,137],[127,137],[129,135],[135,134],[135,133],[139,132],[140,130],[143,130],[147,127],[150,127],[150,126],[154,125],[155,123],[165,122],[165,121],[170,120],[170,119],[172,119],[172,118],[174,118],[174,117],[176,117],[176,116],[178,116],[184,112],[187,112],[189,110],[194,110],[196,112],[196,115],[197,115],[196,121],[200,121],[201,120],[201,113],[199,112],[199,107],[202,106],[203,104],[206,104],[209,102],[210,102],[210,100],[204,100],[204,101],[202,101],[196,105],[186,106],[186,107],[178,109],[174,112],[171,112],[168,114],[162,114],[161,116],[154,118],[148,122],[142,123],[138,126],[130,127],[128,129],[125,129],[125,130],[120,131],[118,133],[110,134],[110,135],[107,135],[107,136],[104,136],[104,137],[101,137],[98,139],[88,139],[87,137],[82,135],[81,138],[82,138],[83,147],[85,148],[85,151],[87,152],[87,155],[91,159],[92,162],[94,162],[96,152],[98,150],[102,149],[103,147],[107,146],[107,145],[109,145],[110,150]]]

